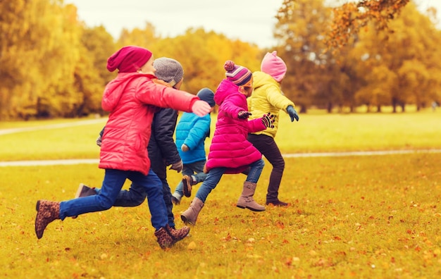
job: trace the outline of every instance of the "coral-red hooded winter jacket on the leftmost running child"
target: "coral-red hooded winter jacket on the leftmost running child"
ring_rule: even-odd
[[[139,171],[150,169],[147,144],[157,107],[192,111],[199,98],[152,81],[154,75],[118,73],[106,85],[101,106],[110,111],[101,142],[99,168]]]

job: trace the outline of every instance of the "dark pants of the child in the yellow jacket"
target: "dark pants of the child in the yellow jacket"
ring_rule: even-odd
[[[266,192],[266,202],[277,202],[280,182],[282,181],[283,170],[285,169],[285,160],[280,153],[279,147],[275,144],[274,138],[268,135],[248,134],[248,141],[251,142],[273,166],[268,191]]]

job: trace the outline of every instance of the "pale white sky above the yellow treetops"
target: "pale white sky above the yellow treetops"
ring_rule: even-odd
[[[344,3],[347,0],[330,0]],[[156,35],[175,37],[190,28],[203,27],[230,39],[257,44],[261,48],[275,45],[275,14],[283,0],[65,0],[77,6],[80,20],[88,27],[104,25],[114,38],[123,28],[144,29],[146,23],[156,27]],[[441,14],[441,0],[415,0],[420,11],[428,6]],[[440,16],[438,16],[440,18]],[[437,26],[440,26],[438,24]]]

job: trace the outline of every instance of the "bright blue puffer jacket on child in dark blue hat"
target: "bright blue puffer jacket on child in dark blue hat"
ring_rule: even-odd
[[[176,126],[176,146],[182,163],[194,163],[206,160],[205,138],[210,136],[210,115],[199,117],[194,113],[182,113]],[[182,144],[190,149],[184,152]]]

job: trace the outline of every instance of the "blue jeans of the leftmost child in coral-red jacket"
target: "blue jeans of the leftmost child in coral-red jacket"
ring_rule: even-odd
[[[161,180],[153,172],[143,175],[137,171],[120,171],[107,169],[103,185],[98,194],[79,199],[70,199],[60,203],[60,218],[77,216],[83,213],[104,211],[110,209],[116,202],[118,194],[126,179],[134,185],[140,185],[147,193],[147,202],[151,213],[151,225],[159,230],[167,225],[166,204],[163,199]]]

